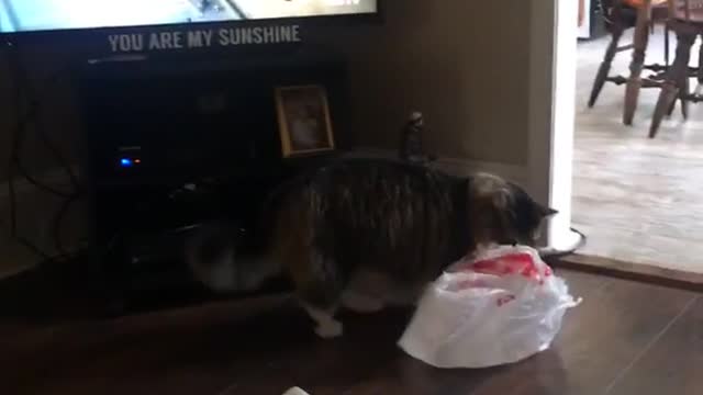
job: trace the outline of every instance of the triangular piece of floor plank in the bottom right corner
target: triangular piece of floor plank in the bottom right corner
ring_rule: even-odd
[[[699,395],[702,392],[703,297],[698,297],[610,394]]]

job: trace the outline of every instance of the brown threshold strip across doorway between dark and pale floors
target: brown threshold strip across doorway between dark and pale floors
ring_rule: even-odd
[[[580,253],[553,259],[549,260],[548,263],[555,268],[577,270],[693,292],[703,292],[703,274],[701,273]]]

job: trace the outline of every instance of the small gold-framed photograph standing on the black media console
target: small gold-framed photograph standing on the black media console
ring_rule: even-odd
[[[276,109],[284,158],[334,150],[334,133],[324,87],[278,87]]]

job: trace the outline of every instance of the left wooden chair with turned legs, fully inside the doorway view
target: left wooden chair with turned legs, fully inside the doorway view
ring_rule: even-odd
[[[654,29],[652,8],[661,8],[667,5],[667,0],[599,0],[602,12],[605,18],[605,26],[611,32],[611,43],[605,50],[605,56],[595,80],[591,89],[589,98],[589,108],[592,108],[598,100],[605,82],[615,84],[626,83],[625,89],[625,106],[623,112],[623,122],[631,125],[637,108],[637,99],[640,88],[659,88],[661,82],[660,76],[654,78],[641,78],[643,69],[656,72],[662,72],[669,66],[669,34],[665,32],[665,53],[666,61],[660,65],[645,65],[645,55],[649,42],[650,30]],[[634,40],[632,44],[620,46],[623,33],[631,27],[635,27]],[[629,77],[609,76],[615,55],[621,52],[633,49],[633,58],[629,65]]]

